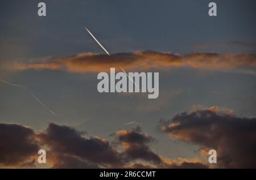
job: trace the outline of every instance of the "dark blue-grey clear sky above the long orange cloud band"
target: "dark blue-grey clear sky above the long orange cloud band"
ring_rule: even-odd
[[[215,1],[217,17],[208,15],[210,1],[204,0],[44,1],[45,18],[37,15],[38,2],[1,2],[2,55],[9,53],[9,46],[22,46],[16,53],[24,57],[101,53],[84,27],[108,46],[110,53],[255,52],[255,48],[232,44],[255,42],[255,1]],[[6,54],[11,56],[15,53]]]

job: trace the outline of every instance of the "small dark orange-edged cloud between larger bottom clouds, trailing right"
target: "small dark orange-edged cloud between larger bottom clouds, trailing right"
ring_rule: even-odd
[[[113,134],[119,144],[125,149],[123,154],[126,160],[133,162],[134,160],[142,160],[143,162],[130,163],[125,168],[208,168],[200,160],[194,162],[185,158],[180,158],[179,162],[164,158],[156,154],[148,144],[155,142],[155,139],[141,131],[141,127],[137,126],[131,130],[121,130]]]

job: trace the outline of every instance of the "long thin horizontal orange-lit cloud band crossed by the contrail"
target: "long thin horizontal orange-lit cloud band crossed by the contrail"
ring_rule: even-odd
[[[111,56],[95,53],[81,53],[72,57],[43,59],[42,62],[15,63],[18,70],[62,70],[68,72],[102,72],[110,67],[126,70],[148,70],[151,68],[209,68],[211,70],[232,70],[256,66],[255,54],[195,53],[179,55],[153,51],[118,53]]]

